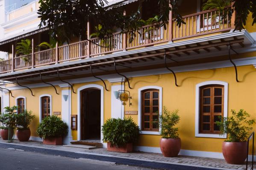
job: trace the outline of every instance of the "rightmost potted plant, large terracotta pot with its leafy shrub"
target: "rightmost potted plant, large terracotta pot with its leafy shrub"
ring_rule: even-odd
[[[221,135],[228,134],[228,139],[222,144],[222,153],[228,164],[243,164],[247,156],[247,137],[255,119],[248,120],[250,114],[243,109],[231,112],[232,116],[217,122]]]

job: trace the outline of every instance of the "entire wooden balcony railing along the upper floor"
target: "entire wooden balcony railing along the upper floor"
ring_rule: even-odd
[[[93,38],[69,45],[56,45],[56,48],[1,61],[0,74],[100,57],[118,53],[118,51],[131,51],[167,42],[188,40],[193,37],[203,37],[206,34],[224,33],[230,31],[234,25],[232,23],[233,16],[226,15],[223,17],[224,12],[228,10],[231,10],[231,6],[225,8],[223,15],[214,9],[184,16],[183,20],[186,24],[182,24],[181,27],[177,26],[174,19],[166,23],[167,29],[164,26],[159,26],[159,24],[143,26],[136,31],[136,36],[132,41],[129,41],[131,34],[118,32],[103,39]]]

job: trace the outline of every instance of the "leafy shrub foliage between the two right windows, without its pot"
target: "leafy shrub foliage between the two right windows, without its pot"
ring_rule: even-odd
[[[160,134],[162,138],[179,138],[178,127],[174,127],[179,123],[179,110],[168,111],[163,107],[162,115],[159,116],[159,126],[161,128]]]

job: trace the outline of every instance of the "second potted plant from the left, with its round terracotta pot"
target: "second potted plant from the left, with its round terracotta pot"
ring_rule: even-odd
[[[32,115],[32,111],[25,110],[23,113],[17,115],[17,138],[21,142],[26,142],[29,140],[31,131],[29,129],[29,124],[35,115]]]

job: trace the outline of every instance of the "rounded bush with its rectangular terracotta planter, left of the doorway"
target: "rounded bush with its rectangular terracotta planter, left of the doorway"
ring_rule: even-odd
[[[36,133],[43,138],[43,144],[62,144],[62,137],[68,134],[68,125],[57,116],[47,116],[38,125]]]

